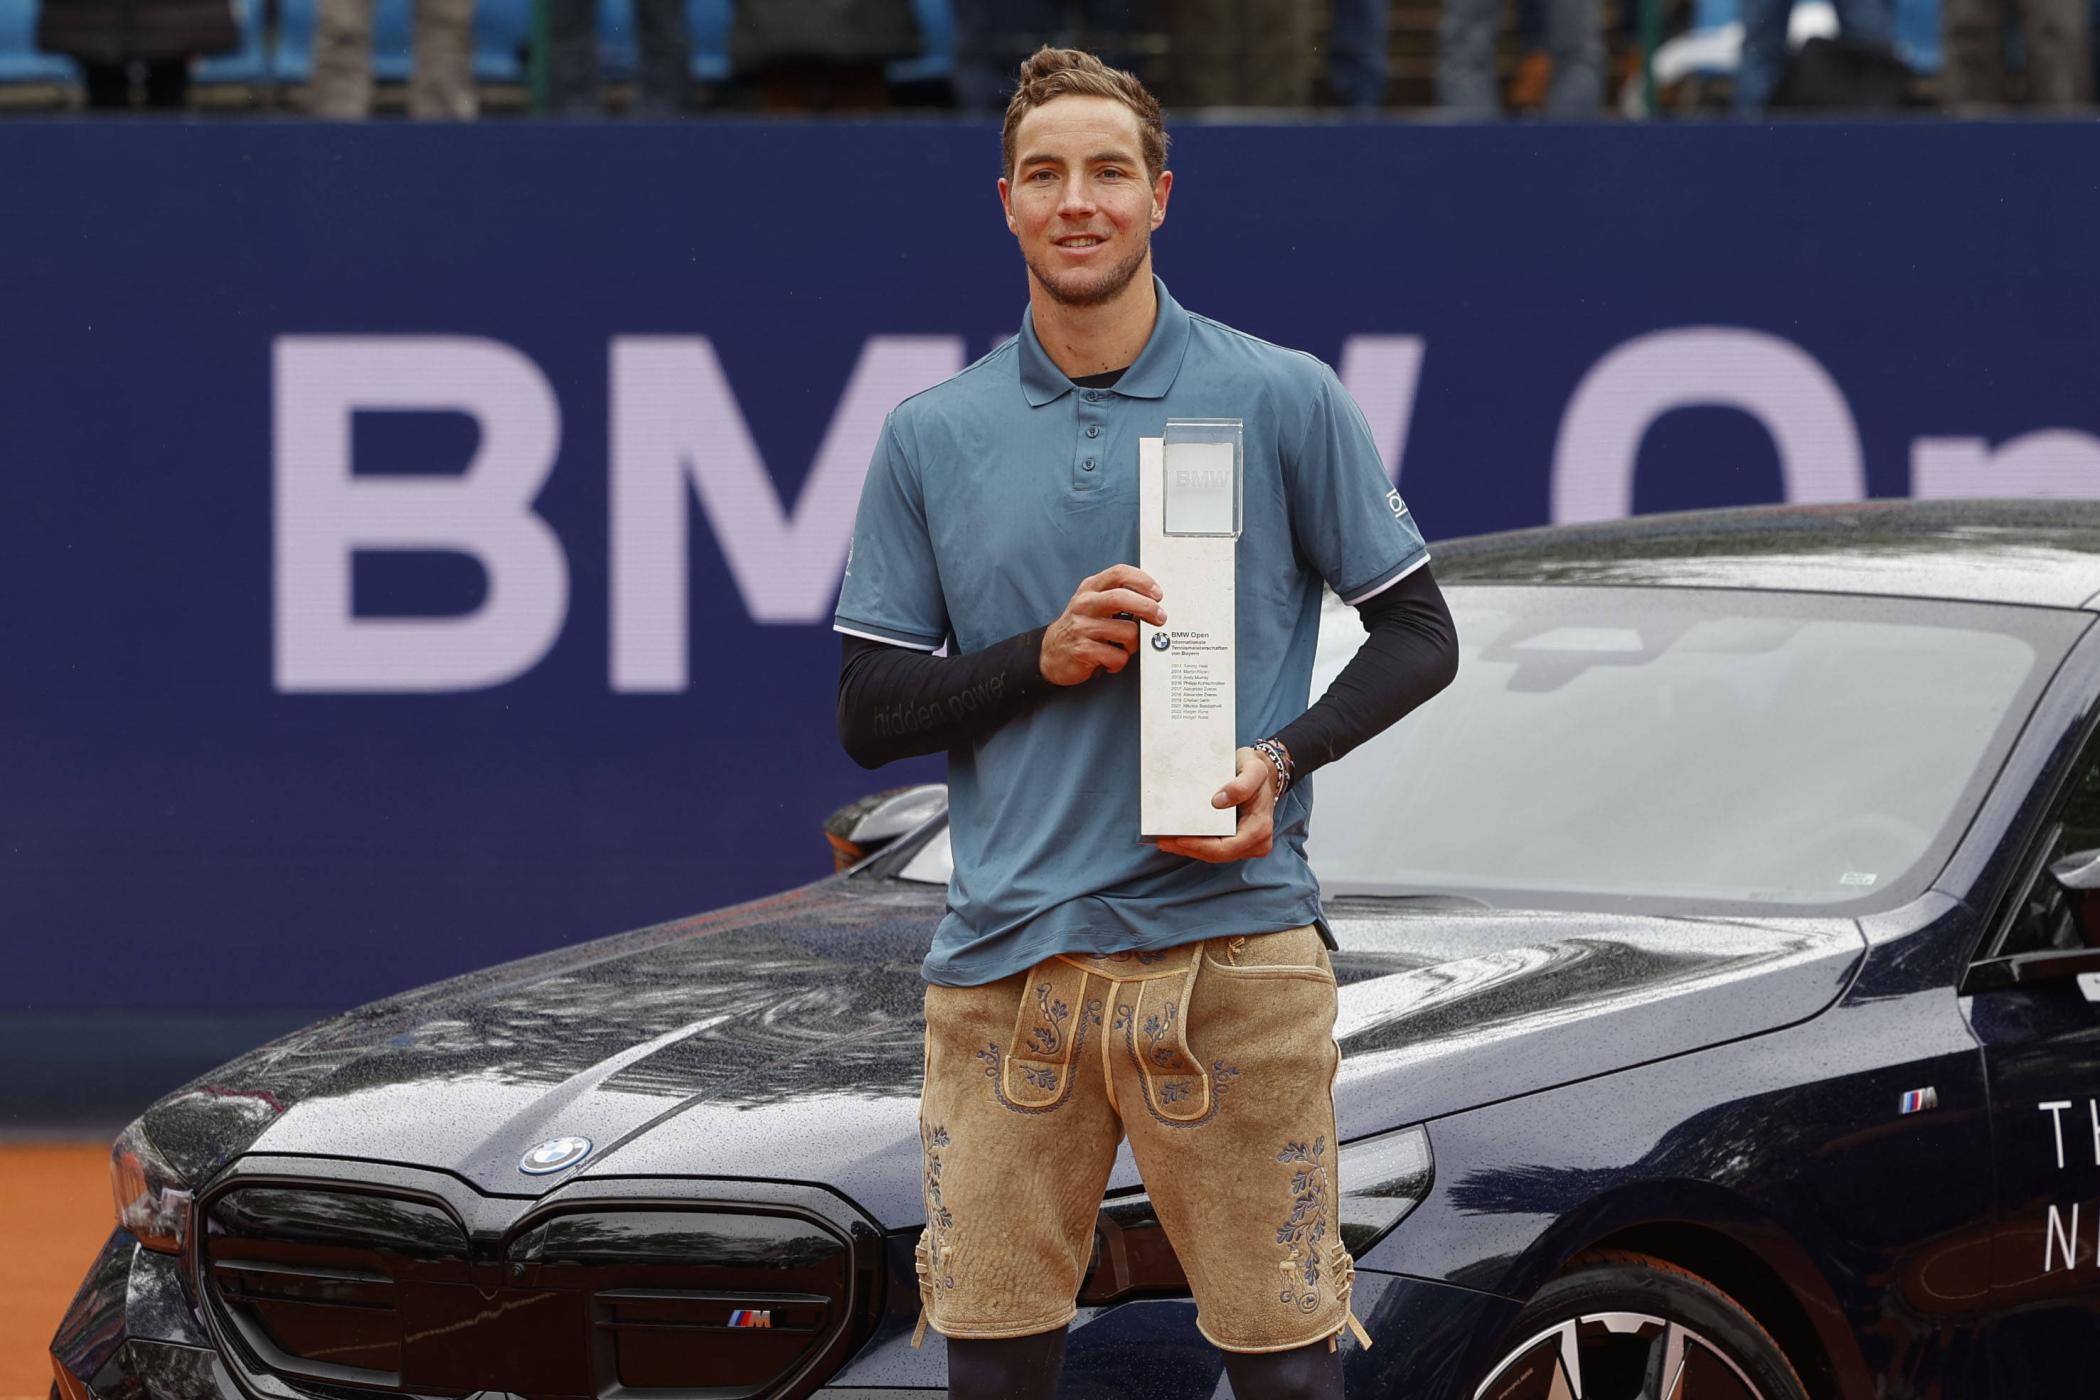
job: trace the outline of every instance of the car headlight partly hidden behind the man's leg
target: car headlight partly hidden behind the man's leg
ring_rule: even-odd
[[[1342,1245],[1352,1257],[1376,1245],[1407,1211],[1422,1205],[1436,1178],[1430,1129],[1415,1123],[1342,1144]],[[1132,1192],[1100,1203],[1094,1259],[1079,1301],[1113,1303],[1134,1293],[1186,1293],[1189,1276],[1153,1213],[1151,1196]]]

